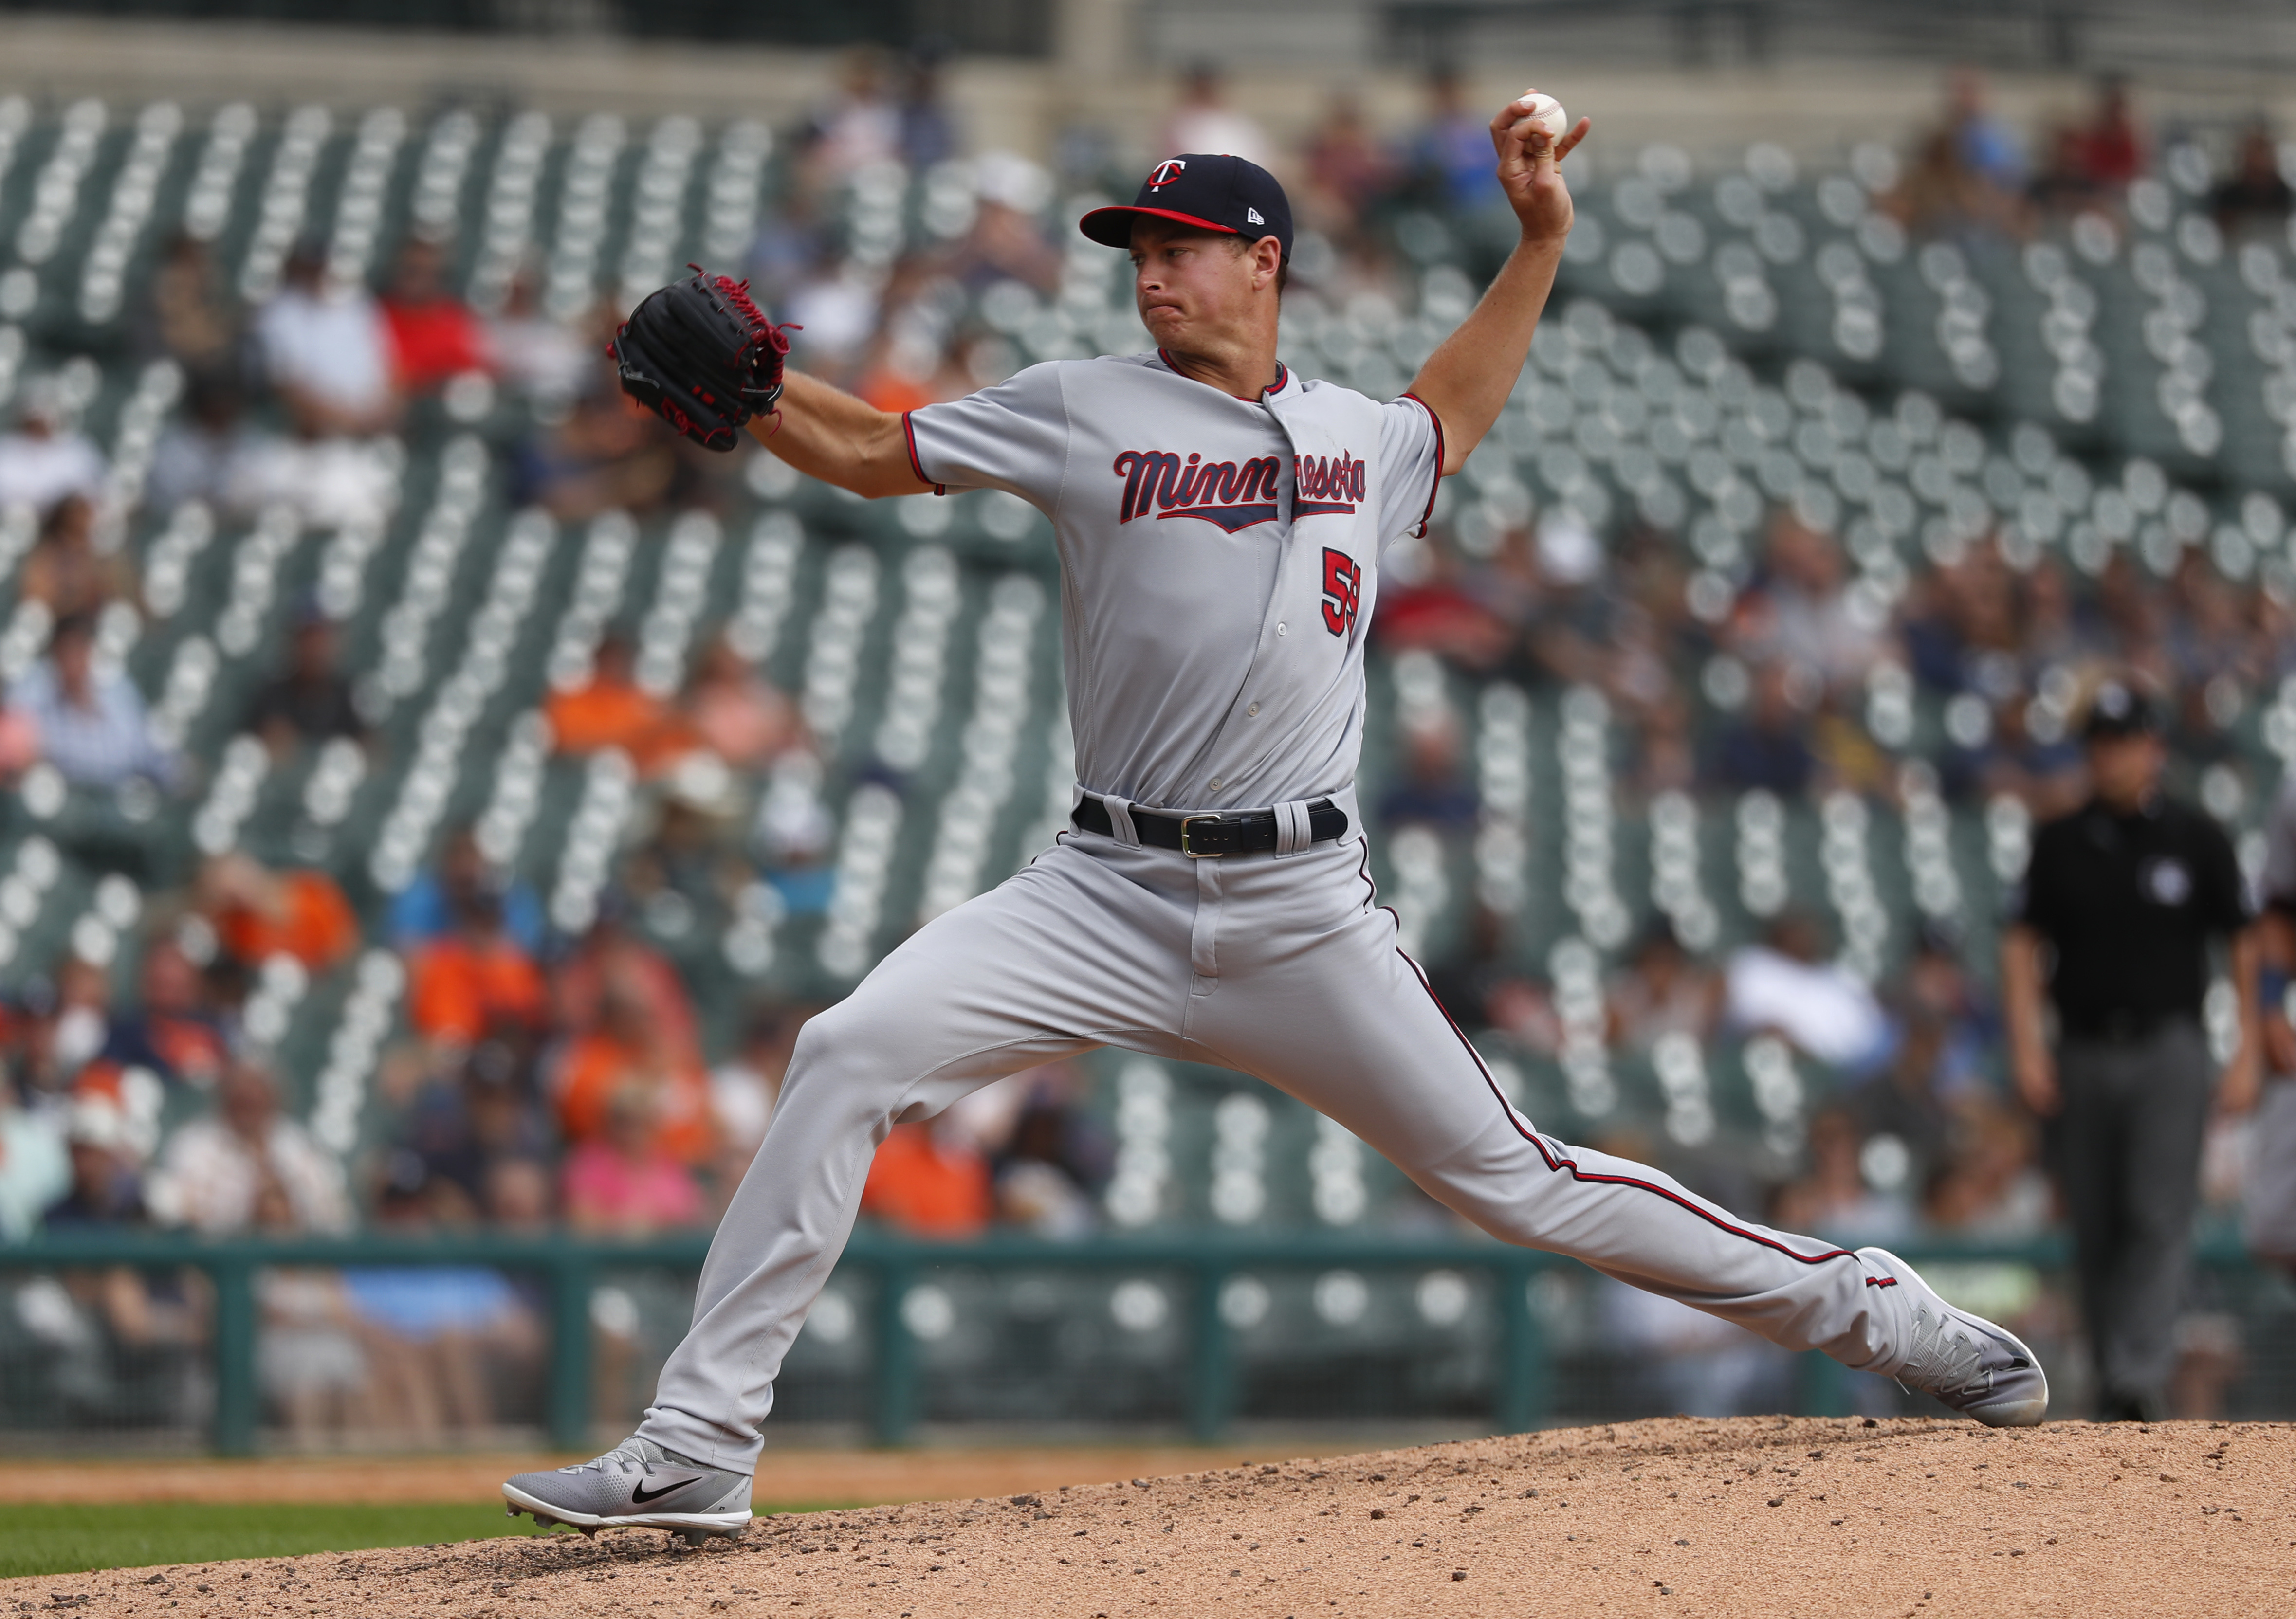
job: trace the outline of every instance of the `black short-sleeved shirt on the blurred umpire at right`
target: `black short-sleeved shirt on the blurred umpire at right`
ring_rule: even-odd
[[[2041,827],[2014,905],[2014,921],[2055,946],[2048,990],[2071,1038],[2200,1017],[2209,937],[2252,914],[2232,841],[2158,795],[2135,815],[2089,799]]]

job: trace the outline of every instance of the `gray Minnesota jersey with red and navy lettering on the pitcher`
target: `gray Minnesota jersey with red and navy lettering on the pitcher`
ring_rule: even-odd
[[[1052,519],[1086,788],[1199,811],[1355,781],[1380,553],[1442,473],[1419,400],[1290,370],[1235,400],[1137,354],[1031,365],[907,432],[918,478]]]

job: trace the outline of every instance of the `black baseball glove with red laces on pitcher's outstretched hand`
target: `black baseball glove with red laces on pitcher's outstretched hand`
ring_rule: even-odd
[[[788,333],[751,303],[748,282],[689,264],[629,312],[606,354],[622,393],[707,450],[730,450],[781,397]]]

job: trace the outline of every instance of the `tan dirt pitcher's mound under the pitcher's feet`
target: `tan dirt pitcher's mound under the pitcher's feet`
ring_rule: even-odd
[[[2296,1608],[2296,1428],[1637,1422],[659,1532],[0,1582],[117,1614],[2211,1614]]]

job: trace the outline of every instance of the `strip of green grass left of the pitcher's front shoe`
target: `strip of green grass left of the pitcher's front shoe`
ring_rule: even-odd
[[[489,1534],[533,1534],[501,1502],[386,1506],[131,1502],[124,1506],[21,1504],[0,1509],[0,1578],[209,1564],[227,1557],[349,1552],[363,1546],[429,1546]]]

